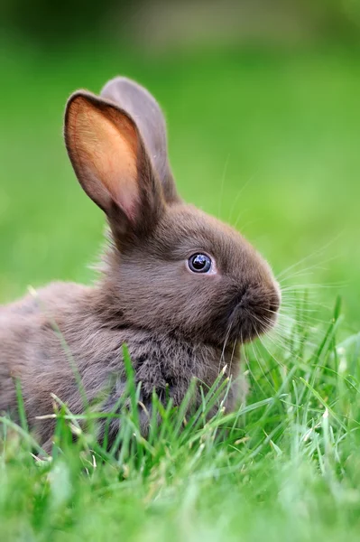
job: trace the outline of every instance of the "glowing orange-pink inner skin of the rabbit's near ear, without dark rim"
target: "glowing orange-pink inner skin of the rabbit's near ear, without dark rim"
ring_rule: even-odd
[[[88,99],[77,101],[73,140],[80,169],[85,173],[81,182],[100,201],[108,201],[110,196],[134,221],[140,204],[134,125],[113,107],[100,110]]]

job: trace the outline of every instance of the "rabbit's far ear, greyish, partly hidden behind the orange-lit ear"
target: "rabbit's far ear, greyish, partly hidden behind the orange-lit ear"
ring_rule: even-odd
[[[165,119],[155,98],[146,89],[124,77],[108,81],[100,96],[110,99],[134,118],[162,182],[165,200],[169,204],[180,201],[168,160]]]

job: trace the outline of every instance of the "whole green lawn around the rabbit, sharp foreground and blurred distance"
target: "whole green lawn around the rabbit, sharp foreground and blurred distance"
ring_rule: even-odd
[[[71,171],[61,122],[71,91],[118,73],[161,102],[184,198],[245,233],[283,286],[278,330],[245,349],[250,394],[234,415],[206,423],[211,390],[185,428],[158,406],[162,425],[143,441],[133,408],[118,453],[59,406],[51,461],[25,420],[4,421],[1,540],[358,540],[358,56],[1,51],[0,302],[93,279],[104,219]],[[134,405],[131,382],[129,369]]]

